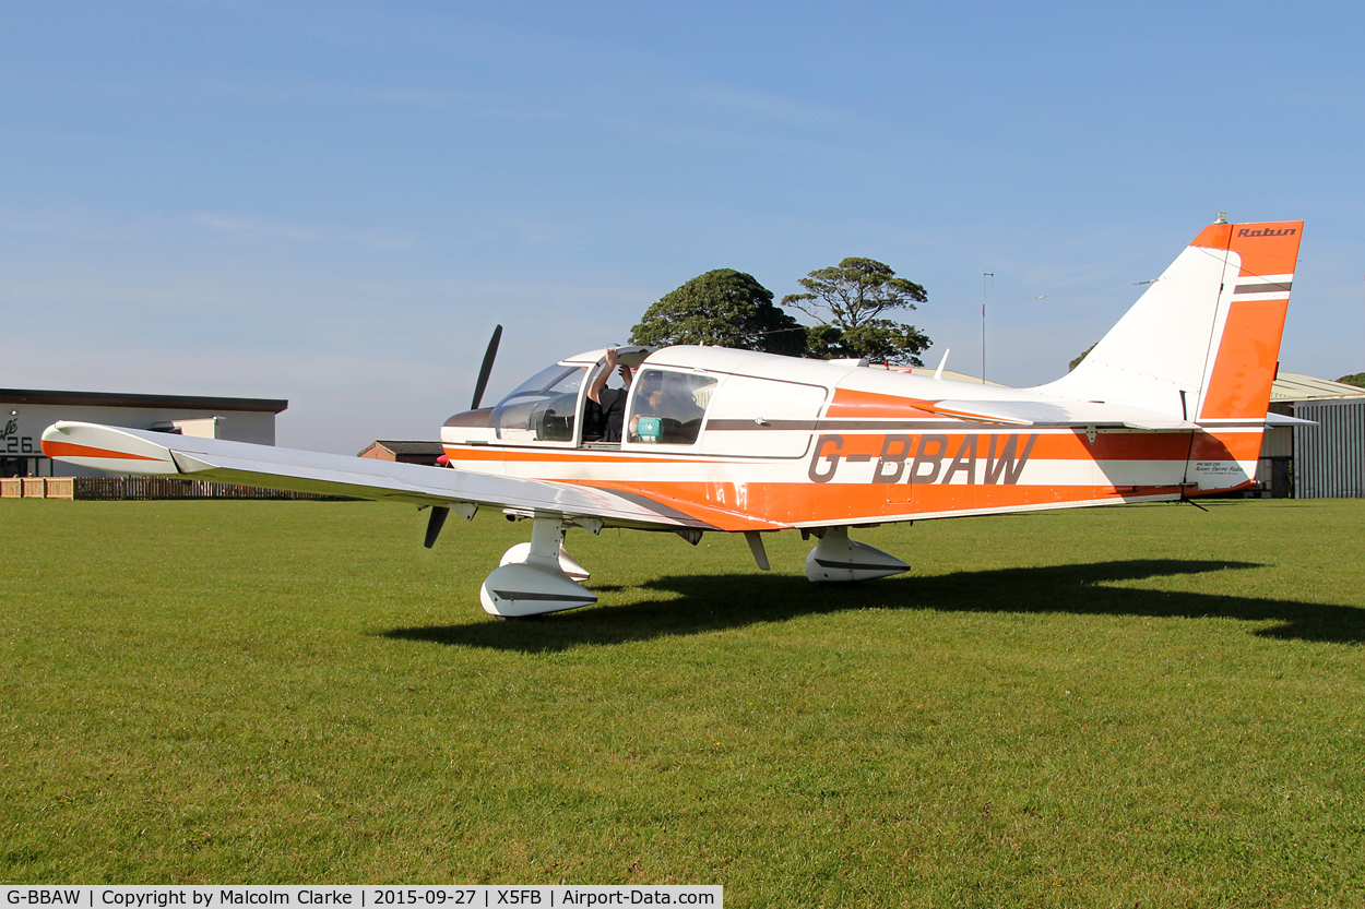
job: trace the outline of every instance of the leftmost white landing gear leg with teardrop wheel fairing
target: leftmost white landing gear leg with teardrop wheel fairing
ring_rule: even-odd
[[[564,519],[536,515],[531,542],[513,546],[500,568],[483,581],[483,610],[501,618],[520,618],[591,606],[597,595],[579,587],[588,572],[564,551]]]

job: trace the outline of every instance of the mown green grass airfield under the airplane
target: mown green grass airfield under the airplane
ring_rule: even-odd
[[[0,502],[7,883],[721,883],[730,906],[1365,904],[1365,501],[812,543],[367,502]]]

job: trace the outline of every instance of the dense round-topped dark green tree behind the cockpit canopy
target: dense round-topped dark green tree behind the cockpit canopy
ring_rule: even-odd
[[[632,344],[710,344],[745,351],[805,354],[805,328],[773,306],[752,274],[715,269],[665,293],[631,329]]]

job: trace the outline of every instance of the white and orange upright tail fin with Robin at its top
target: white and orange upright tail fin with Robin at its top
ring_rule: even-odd
[[[1039,390],[1185,420],[1264,419],[1302,221],[1211,224],[1066,377]]]

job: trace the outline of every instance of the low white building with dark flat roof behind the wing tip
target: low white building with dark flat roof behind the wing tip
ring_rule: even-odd
[[[287,407],[254,397],[0,389],[0,476],[105,476],[42,456],[42,430],[57,420],[274,445],[274,418]]]

